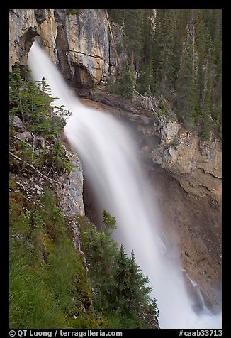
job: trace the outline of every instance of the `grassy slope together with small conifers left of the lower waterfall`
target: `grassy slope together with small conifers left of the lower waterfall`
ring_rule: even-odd
[[[34,204],[13,178],[10,187],[11,328],[152,327],[145,316],[158,315],[156,300],[133,252],[129,257],[108,228],[96,230],[78,215],[86,273],[52,191]],[[103,215],[115,227],[114,217]]]

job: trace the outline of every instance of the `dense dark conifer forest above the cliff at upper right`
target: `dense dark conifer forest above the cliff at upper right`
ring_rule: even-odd
[[[123,26],[120,46],[137,73],[136,90],[163,95],[186,129],[201,138],[220,137],[221,10],[108,9],[108,16]]]

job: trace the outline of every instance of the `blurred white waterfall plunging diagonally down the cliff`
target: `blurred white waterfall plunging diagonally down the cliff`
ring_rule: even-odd
[[[193,311],[182,268],[162,238],[156,203],[130,131],[110,114],[81,104],[37,43],[30,50],[28,65],[34,80],[45,77],[52,96],[59,98],[55,103],[71,109],[65,135],[84,163],[84,175],[100,205],[116,217],[115,238],[128,253],[135,251],[137,263],[150,278],[160,327],[221,328],[221,315],[206,307],[198,314]]]

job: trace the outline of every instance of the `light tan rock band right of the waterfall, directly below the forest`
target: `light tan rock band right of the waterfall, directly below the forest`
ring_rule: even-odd
[[[176,121],[157,127],[140,125],[137,129],[145,137],[146,144],[141,148],[145,158],[168,170],[188,194],[198,197],[209,195],[214,203],[220,205],[220,141],[203,142],[196,134],[190,136],[182,130]],[[158,138],[155,146],[152,136]]]

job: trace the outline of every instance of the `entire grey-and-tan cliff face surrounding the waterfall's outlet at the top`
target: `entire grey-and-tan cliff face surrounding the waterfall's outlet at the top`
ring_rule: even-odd
[[[109,68],[108,21],[100,9],[10,10],[10,68],[26,65],[35,36],[74,87],[94,87]]]

